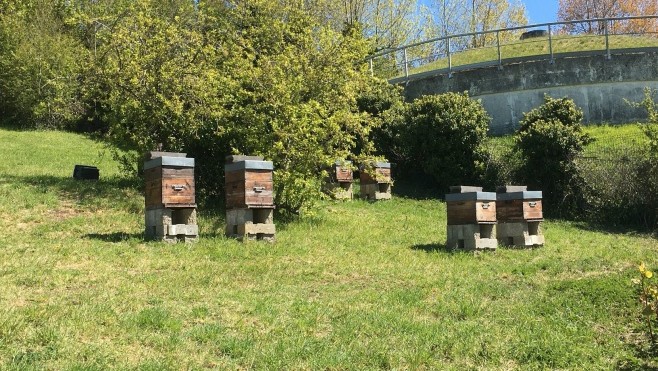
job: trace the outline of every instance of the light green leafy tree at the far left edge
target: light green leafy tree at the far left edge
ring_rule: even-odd
[[[79,77],[86,54],[59,1],[8,2],[0,12],[0,112],[29,128],[72,128],[84,111]]]

